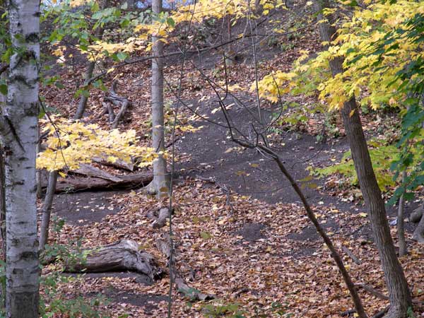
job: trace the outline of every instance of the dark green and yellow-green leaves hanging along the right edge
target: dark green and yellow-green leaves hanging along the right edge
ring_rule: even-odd
[[[391,66],[384,65],[384,56],[393,54],[399,48],[399,43],[408,47],[416,47],[416,51],[424,42],[424,14],[416,13],[404,20],[398,28],[391,30],[381,40],[370,46],[368,54],[358,54],[356,60],[366,59],[376,55],[375,67],[389,72]],[[413,192],[424,185],[424,59],[420,54],[413,54],[410,59],[395,73],[388,88],[396,88],[399,95],[406,96],[406,109],[401,112],[401,138],[396,146],[400,155],[391,163],[394,178],[403,171],[408,175],[403,184],[396,189],[389,204],[396,203],[402,194],[406,199],[413,199]]]

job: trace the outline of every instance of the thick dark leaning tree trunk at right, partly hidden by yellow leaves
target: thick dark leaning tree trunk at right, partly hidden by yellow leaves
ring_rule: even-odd
[[[319,24],[319,33],[323,42],[330,42],[336,33],[336,29],[331,26],[331,17],[326,16],[324,18],[322,15],[322,9],[328,7],[329,4],[326,0],[315,1],[315,8],[319,12],[318,20],[330,20]],[[329,64],[333,76],[343,73],[343,58],[330,59]],[[390,309],[385,317],[406,317],[408,307],[411,307],[412,304],[411,293],[391,239],[386,208],[372,169],[370,153],[368,152],[367,141],[360,122],[355,96],[344,103],[341,114],[351,146],[352,159],[358,175],[360,189],[368,209],[368,216],[382,263],[387,289],[389,290]]]

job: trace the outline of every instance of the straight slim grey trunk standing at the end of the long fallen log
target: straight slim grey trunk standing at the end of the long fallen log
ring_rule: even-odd
[[[162,0],[152,1],[152,11],[158,15],[162,11]],[[153,161],[153,184],[158,197],[166,196],[170,189],[170,177],[167,173],[166,160],[163,158],[165,151],[165,131],[163,119],[163,42],[160,37],[153,36],[153,56],[152,59],[152,139],[153,148],[159,153],[157,159]]]

